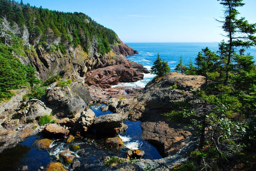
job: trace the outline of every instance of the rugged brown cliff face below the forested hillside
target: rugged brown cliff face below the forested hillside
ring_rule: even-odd
[[[104,56],[93,50],[87,54],[81,46],[69,47],[67,51],[65,55],[60,51],[49,53],[42,46],[37,46],[34,52],[27,54],[27,57],[17,57],[26,65],[31,63],[42,81],[58,73],[66,78],[86,79],[85,82],[89,85],[100,84],[103,87],[118,84],[120,81],[134,82],[143,79],[143,74],[133,69],[139,64],[131,64],[125,57],[137,51],[124,43],[112,46],[112,50]],[[97,77],[99,71],[101,76]],[[113,80],[108,77],[112,77]]]

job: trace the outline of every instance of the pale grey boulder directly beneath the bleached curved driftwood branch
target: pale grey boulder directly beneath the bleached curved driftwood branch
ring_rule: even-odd
[[[26,114],[26,122],[33,122],[34,120],[38,120],[40,117],[44,115],[50,115],[52,112],[52,109],[50,108],[44,108],[43,104],[40,102],[32,103],[29,108],[28,112]]]

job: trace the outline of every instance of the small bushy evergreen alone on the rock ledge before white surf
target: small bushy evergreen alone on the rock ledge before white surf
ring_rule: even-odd
[[[157,77],[163,77],[165,74],[169,73],[171,71],[168,62],[164,62],[160,58],[159,53],[157,54],[157,59],[154,62],[153,66],[150,68],[151,74],[156,74]]]

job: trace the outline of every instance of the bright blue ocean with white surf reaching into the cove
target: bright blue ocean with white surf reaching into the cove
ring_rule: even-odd
[[[188,64],[191,60],[195,62],[195,58],[198,52],[202,48],[208,47],[210,50],[216,52],[218,51],[218,43],[216,42],[184,42],[184,43],[126,43],[134,50],[138,50],[139,54],[127,56],[127,59],[140,63],[148,70],[152,67],[153,62],[156,60],[157,53],[168,64],[171,71],[174,71],[176,65],[180,61],[180,56],[182,56],[183,64]],[[246,49],[245,54],[250,53],[254,56],[256,60],[256,47]],[[145,87],[145,85],[152,80],[155,75],[144,74],[144,79],[134,82],[134,83],[119,83],[118,85],[113,85],[112,87]]]

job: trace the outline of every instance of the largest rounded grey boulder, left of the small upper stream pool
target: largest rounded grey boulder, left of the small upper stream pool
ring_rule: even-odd
[[[60,118],[72,117],[81,113],[86,109],[88,101],[91,100],[90,93],[85,87],[76,83],[72,85],[71,88],[64,86],[47,90],[46,100]]]

